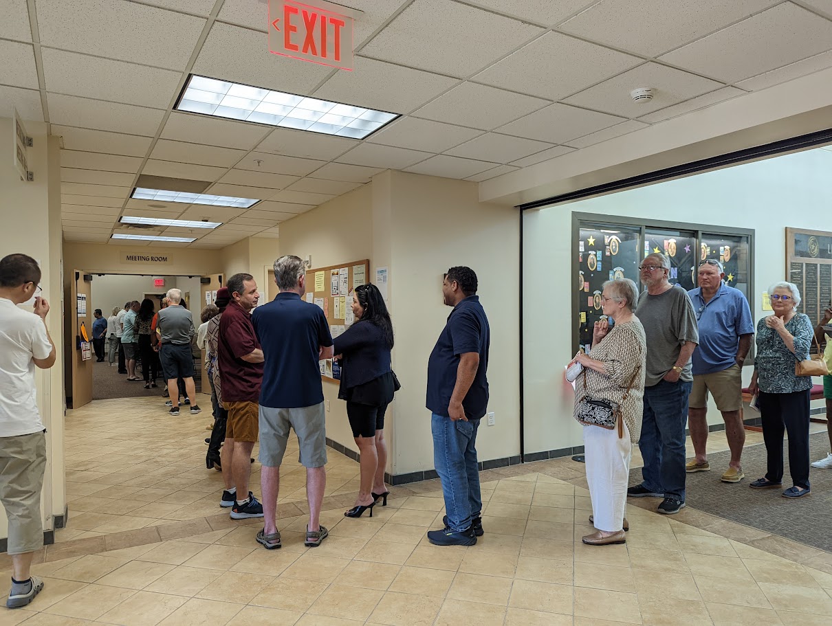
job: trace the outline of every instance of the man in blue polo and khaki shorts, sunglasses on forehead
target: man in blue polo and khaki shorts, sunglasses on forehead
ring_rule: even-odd
[[[693,386],[687,417],[696,457],[685,466],[685,471],[711,470],[706,452],[710,392],[726,424],[730,448],[730,462],[721,481],[740,482],[745,478],[740,465],[745,446],[745,426],[740,417],[742,364],[754,338],[754,319],[742,292],[724,282],[726,274],[719,261],[702,261],[698,276],[699,287],[688,292],[699,328],[699,345],[692,357]]]

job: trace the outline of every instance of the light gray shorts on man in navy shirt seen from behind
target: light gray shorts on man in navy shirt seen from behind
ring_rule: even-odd
[[[300,465],[325,466],[326,417],[323,402],[311,407],[290,409],[260,405],[260,464],[266,467],[280,467],[286,452],[290,427],[295,429],[298,436]]]

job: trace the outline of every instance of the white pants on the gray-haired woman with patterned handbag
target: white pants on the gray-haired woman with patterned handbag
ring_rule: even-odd
[[[622,530],[624,525],[632,443],[626,423],[623,426],[624,436],[620,439],[617,427],[612,431],[598,426],[583,427],[584,457],[594,524],[598,530],[607,532]]]

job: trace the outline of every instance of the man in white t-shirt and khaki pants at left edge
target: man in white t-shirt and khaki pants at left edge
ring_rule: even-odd
[[[26,606],[43,589],[32,576],[32,555],[43,546],[41,490],[47,463],[46,429],[37,410],[35,367],[48,369],[56,351],[40,296],[41,270],[26,254],[0,259],[0,502],[8,518],[12,590],[6,606]],[[34,314],[17,305],[35,298]]]

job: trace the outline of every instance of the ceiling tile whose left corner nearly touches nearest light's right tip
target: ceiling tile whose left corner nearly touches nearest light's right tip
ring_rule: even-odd
[[[488,106],[483,106],[483,102],[488,102]],[[537,111],[547,104],[548,101],[540,98],[463,82],[415,111],[414,116],[493,131],[498,126]]]

